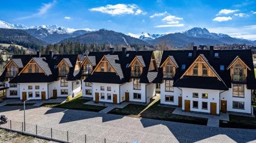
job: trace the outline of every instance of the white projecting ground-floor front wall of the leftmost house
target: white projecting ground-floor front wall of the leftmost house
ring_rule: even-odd
[[[46,99],[48,99],[48,87],[47,83],[18,83],[19,86],[19,96],[20,100],[22,100],[22,92],[27,92],[27,99],[29,98],[29,92],[33,92],[33,97],[31,99],[39,99],[41,100],[41,92],[46,92]],[[28,86],[32,85],[33,89],[29,90]],[[39,85],[39,90],[35,89],[35,85]],[[39,97],[35,97],[35,92],[39,92]]]

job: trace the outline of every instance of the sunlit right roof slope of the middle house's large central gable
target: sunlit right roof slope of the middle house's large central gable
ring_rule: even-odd
[[[110,63],[110,65],[113,67],[113,69],[116,71],[116,73],[119,75],[119,77],[122,79],[123,71],[121,68],[121,64],[120,64],[118,55],[104,55],[104,57]]]

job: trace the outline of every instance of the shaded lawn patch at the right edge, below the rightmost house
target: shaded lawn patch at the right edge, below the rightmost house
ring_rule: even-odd
[[[256,118],[229,115],[229,122],[223,123],[223,121],[220,121],[220,127],[256,129]]]

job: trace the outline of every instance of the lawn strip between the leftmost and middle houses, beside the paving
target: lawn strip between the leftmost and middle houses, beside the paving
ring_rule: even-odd
[[[84,110],[84,111],[95,111],[98,112],[100,110],[103,110],[105,107],[103,106],[94,106],[94,105],[86,105],[83,103],[86,103],[90,100],[87,99],[81,99],[82,94],[79,94],[75,98],[73,98],[71,101],[66,103],[45,103],[41,106],[45,107],[55,107],[55,108],[65,108],[65,109],[75,109],[75,110]]]

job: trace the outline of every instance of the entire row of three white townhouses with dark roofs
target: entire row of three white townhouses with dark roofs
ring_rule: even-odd
[[[7,98],[20,100],[76,96],[96,103],[149,103],[160,84],[160,103],[185,111],[219,115],[252,113],[256,89],[251,50],[163,51],[159,67],[153,51],[13,55],[0,81]]]

